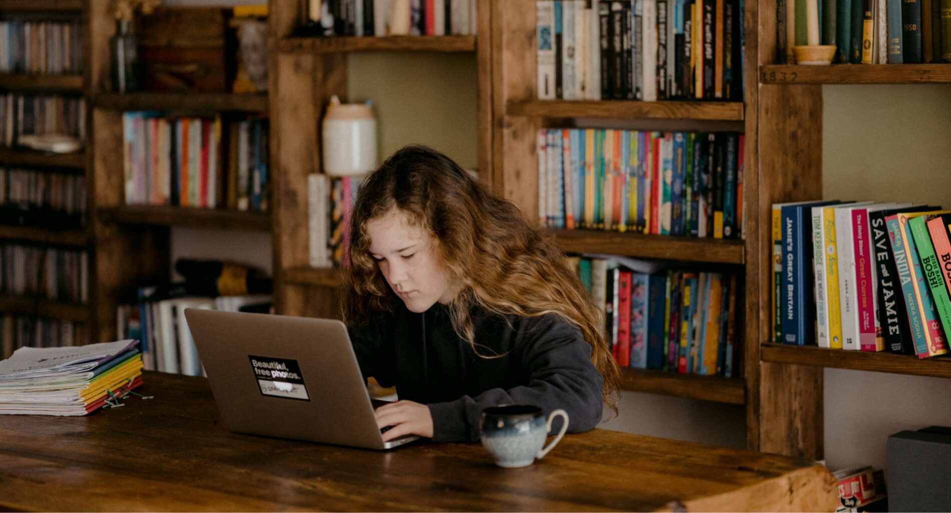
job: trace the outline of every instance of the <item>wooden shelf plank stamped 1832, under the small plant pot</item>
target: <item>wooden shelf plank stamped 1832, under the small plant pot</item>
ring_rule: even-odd
[[[761,84],[946,84],[951,65],[760,66]]]

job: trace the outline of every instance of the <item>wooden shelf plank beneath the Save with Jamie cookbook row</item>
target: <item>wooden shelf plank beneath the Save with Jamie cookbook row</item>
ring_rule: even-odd
[[[763,344],[761,354],[765,362],[951,378],[949,357],[918,358],[891,352],[830,350],[783,344]]]

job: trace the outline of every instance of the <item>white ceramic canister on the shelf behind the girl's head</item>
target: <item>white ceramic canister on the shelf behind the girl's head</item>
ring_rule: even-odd
[[[377,166],[377,118],[371,104],[341,104],[335,95],[322,132],[324,173],[362,175]]]

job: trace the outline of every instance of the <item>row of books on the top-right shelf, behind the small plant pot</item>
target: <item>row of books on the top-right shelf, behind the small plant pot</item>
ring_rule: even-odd
[[[792,47],[820,43],[836,47],[838,64],[951,62],[951,5],[938,0],[780,0],[776,29],[783,63]]]

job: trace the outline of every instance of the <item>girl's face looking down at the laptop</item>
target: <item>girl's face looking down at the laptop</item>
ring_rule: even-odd
[[[393,208],[370,219],[366,232],[370,257],[410,312],[426,312],[437,301],[447,304],[458,293],[436,255],[436,239],[402,211]]]

